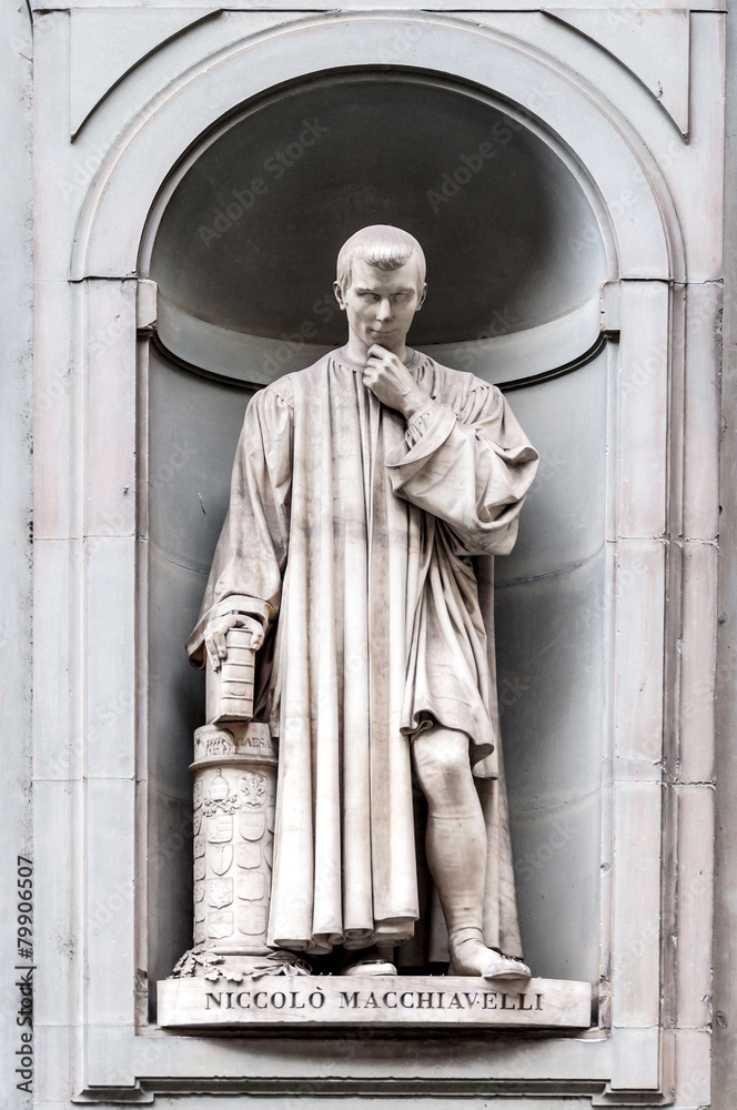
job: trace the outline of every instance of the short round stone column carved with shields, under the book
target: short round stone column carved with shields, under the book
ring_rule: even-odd
[[[204,725],[194,734],[194,945],[265,955],[276,745],[269,726]]]

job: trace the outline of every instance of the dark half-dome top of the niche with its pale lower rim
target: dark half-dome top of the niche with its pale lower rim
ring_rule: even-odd
[[[256,100],[168,184],[144,260],[163,345],[254,384],[309,365],[343,342],[341,243],[388,222],[426,244],[415,345],[506,379],[578,357],[612,259],[590,190],[537,132],[431,74],[350,71]]]

